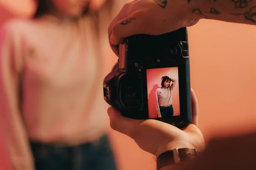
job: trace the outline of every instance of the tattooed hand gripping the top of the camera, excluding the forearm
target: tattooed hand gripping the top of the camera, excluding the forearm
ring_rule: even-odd
[[[134,0],[127,3],[108,28],[111,47],[117,55],[116,45],[128,36],[159,35],[193,26],[199,20],[189,20],[190,13],[185,0]]]

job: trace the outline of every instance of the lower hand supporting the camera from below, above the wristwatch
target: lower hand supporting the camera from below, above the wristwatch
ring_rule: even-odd
[[[130,136],[138,146],[159,156],[175,148],[191,148],[203,151],[205,148],[204,136],[198,129],[198,102],[195,93],[191,91],[192,124],[183,130],[175,126],[154,119],[134,120],[121,116],[113,108],[108,109],[111,128]]]

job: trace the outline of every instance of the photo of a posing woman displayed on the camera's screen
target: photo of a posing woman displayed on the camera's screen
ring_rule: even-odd
[[[178,67],[147,69],[148,118],[180,116]]]

